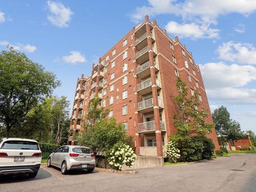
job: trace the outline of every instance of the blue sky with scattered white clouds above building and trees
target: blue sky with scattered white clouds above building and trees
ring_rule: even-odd
[[[52,71],[73,102],[77,77],[143,20],[179,36],[201,67],[211,110],[256,132],[256,1],[1,1],[0,50],[11,44]]]

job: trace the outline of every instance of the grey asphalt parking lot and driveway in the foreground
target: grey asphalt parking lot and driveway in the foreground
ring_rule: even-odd
[[[256,155],[137,169],[137,174],[71,172],[41,165],[36,178],[1,177],[0,191],[256,191]]]

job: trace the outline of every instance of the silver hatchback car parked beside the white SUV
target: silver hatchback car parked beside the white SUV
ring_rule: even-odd
[[[47,166],[60,168],[63,175],[73,169],[86,169],[92,173],[95,168],[95,154],[88,147],[64,145],[50,154]]]

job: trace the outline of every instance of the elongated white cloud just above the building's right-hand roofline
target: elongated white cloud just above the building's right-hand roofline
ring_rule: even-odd
[[[218,29],[212,29],[205,25],[198,25],[195,23],[178,24],[176,22],[168,22],[165,26],[168,33],[178,35],[179,37],[197,38],[217,38],[219,36]]]

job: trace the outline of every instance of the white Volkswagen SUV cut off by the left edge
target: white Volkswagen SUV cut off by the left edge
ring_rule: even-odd
[[[12,174],[37,175],[42,153],[39,145],[32,139],[0,139],[0,176]]]

